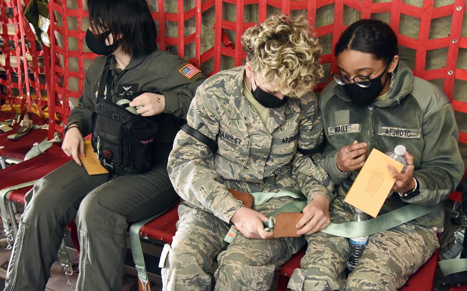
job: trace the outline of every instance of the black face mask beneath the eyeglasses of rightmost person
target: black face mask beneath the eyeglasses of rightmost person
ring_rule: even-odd
[[[391,79],[391,73],[387,74],[386,81],[384,84],[381,83],[381,78],[386,72],[387,68],[384,69],[383,73],[379,75],[379,77],[371,79],[371,85],[367,88],[363,88],[358,86],[355,83],[346,84],[343,86],[345,93],[347,96],[358,106],[368,106],[373,101],[375,101],[376,97],[379,96],[381,91],[383,91],[384,86],[386,85],[387,80]]]

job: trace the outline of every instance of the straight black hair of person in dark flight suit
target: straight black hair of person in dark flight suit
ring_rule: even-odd
[[[87,0],[91,26],[113,37],[121,35],[115,45],[131,56],[144,56],[157,49],[154,20],[145,0]],[[104,31],[100,31],[102,33]]]

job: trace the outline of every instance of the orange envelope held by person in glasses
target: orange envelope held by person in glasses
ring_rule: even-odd
[[[391,192],[391,188],[396,182],[387,169],[387,164],[391,164],[398,172],[402,171],[404,167],[400,162],[373,149],[344,201],[376,217],[387,198],[387,194]]]

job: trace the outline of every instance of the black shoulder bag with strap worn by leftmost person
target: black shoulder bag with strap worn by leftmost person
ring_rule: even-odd
[[[110,60],[111,56],[107,57],[99,84],[92,147],[110,174],[144,173],[155,162],[154,139],[158,124],[111,101]],[[108,100],[104,99],[105,87]]]

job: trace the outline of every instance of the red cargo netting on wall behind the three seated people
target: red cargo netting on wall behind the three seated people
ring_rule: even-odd
[[[425,0],[420,7],[402,0],[384,3],[373,3],[372,0],[196,0],[194,7],[185,7],[183,0],[177,0],[175,11],[167,11],[164,1],[149,0],[148,3],[154,10],[153,17],[158,25],[160,49],[177,53],[207,75],[241,65],[245,57],[240,45],[243,31],[262,22],[271,13],[306,16],[310,24],[316,26],[315,32],[324,48],[321,62],[327,74],[317,91],[330,80],[328,73],[336,71],[334,45],[346,25],[359,18],[383,19],[398,35],[401,57],[415,75],[441,86],[452,100],[457,111],[461,149],[465,150],[463,153],[467,157],[467,124],[464,126],[465,122],[461,122],[467,121],[467,115],[462,117],[462,114],[467,114],[467,96],[460,94],[467,89],[467,67],[463,65],[462,68],[458,64],[459,54],[467,53],[467,37],[461,37],[464,0],[452,0],[452,4],[445,6],[439,6],[434,0]],[[85,63],[94,55],[87,51],[83,41],[84,29],[89,22],[82,2],[78,1],[73,9],[67,8],[66,1],[52,0],[50,4],[50,56],[51,64],[55,65],[50,70],[53,85],[50,97],[53,96],[54,102],[49,100],[49,110],[66,119],[69,114],[68,97],[82,94],[84,72],[88,66]],[[212,7],[214,13],[210,13]],[[251,15],[255,15],[254,19],[250,19]],[[70,19],[75,19],[73,26]],[[84,20],[85,26],[82,25]],[[176,33],[173,33],[174,26],[177,27]],[[433,60],[435,56],[436,61]],[[74,70],[70,69],[72,60],[77,64]],[[74,88],[70,87],[73,84]],[[50,136],[53,130],[62,130],[52,118],[49,121],[54,125]]]

